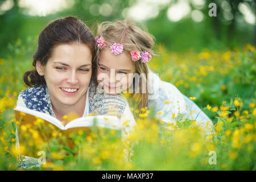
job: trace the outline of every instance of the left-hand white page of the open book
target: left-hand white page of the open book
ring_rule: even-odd
[[[59,121],[59,119],[52,117],[49,114],[41,113],[39,111],[35,111],[35,110],[27,109],[26,107],[19,107],[19,106],[16,106],[14,108],[14,110],[21,111],[23,113],[27,113],[27,114],[31,114],[31,115],[35,115],[36,117],[42,118],[42,119],[52,123],[52,125],[59,127],[59,129],[64,130],[64,125]]]

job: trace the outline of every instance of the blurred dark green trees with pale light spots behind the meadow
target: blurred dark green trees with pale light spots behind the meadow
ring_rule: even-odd
[[[208,14],[212,2],[216,17]],[[94,34],[97,22],[133,17],[169,51],[255,45],[255,7],[253,0],[0,0],[0,57],[12,55],[17,39],[34,51],[42,28],[67,15],[84,20]]]

